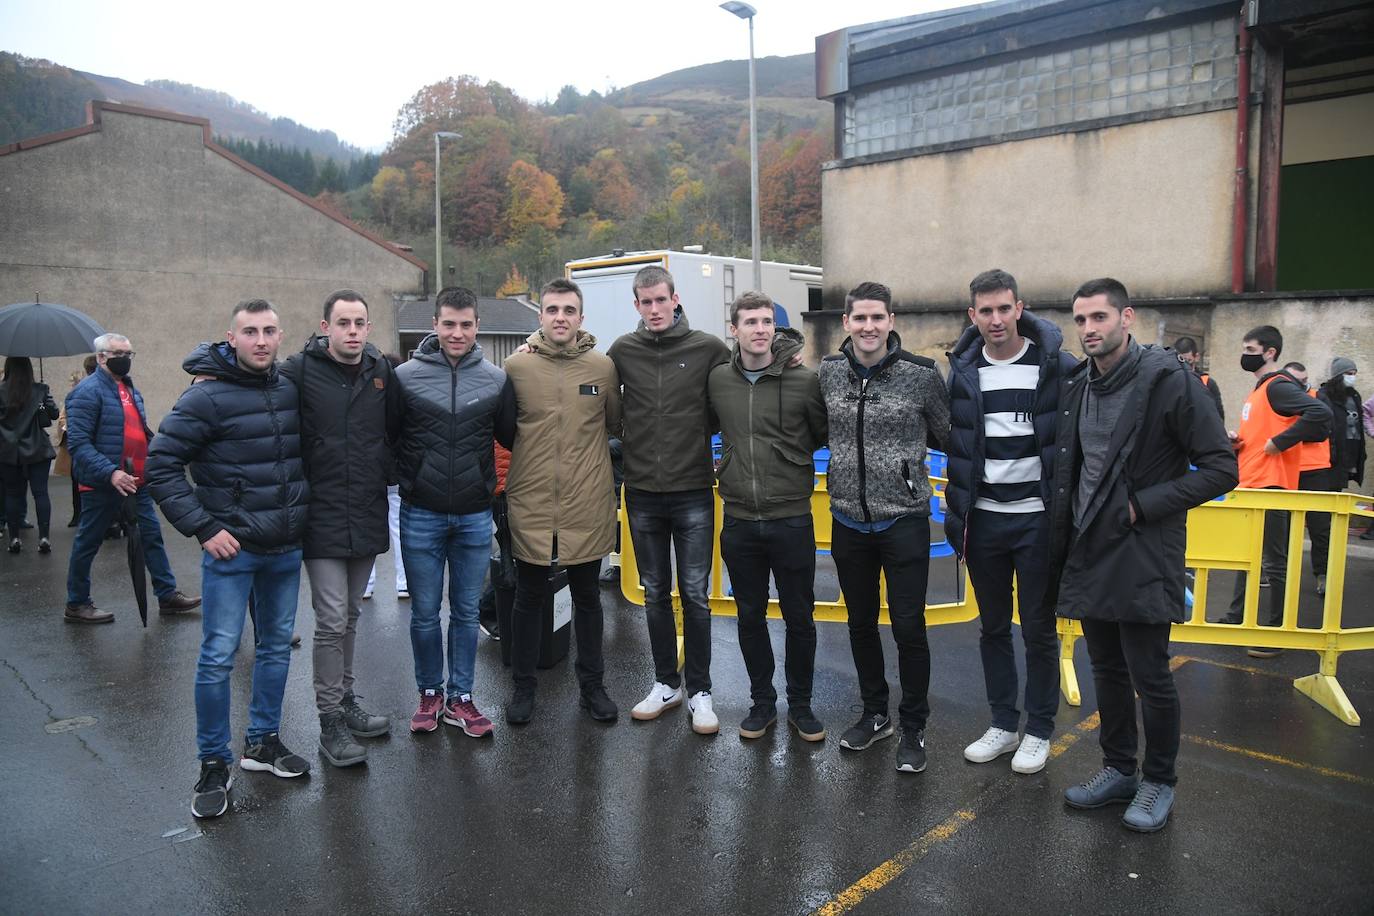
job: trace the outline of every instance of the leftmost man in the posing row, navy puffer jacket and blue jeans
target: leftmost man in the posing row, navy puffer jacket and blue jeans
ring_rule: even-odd
[[[271,302],[239,302],[228,339],[202,343],[181,364],[196,383],[162,419],[148,450],[146,475],[162,514],[205,548],[195,672],[201,779],[191,803],[196,817],[228,810],[229,674],[250,600],[257,651],[239,765],[283,777],[311,769],[278,737],[311,494],[301,464],[300,397],[276,371],[280,341]]]

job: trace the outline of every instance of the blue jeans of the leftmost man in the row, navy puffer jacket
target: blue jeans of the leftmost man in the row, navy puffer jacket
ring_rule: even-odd
[[[82,519],[85,509],[82,508]],[[282,695],[291,665],[291,628],[301,589],[301,551],[249,553],[228,560],[201,556],[201,659],[195,666],[195,743],[201,759],[229,762],[229,674],[253,599],[253,699],[247,740],[282,725]]]

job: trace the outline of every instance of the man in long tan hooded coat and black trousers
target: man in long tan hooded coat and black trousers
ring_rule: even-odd
[[[581,330],[583,293],[554,280],[540,293],[539,331],[506,360],[515,387],[515,444],[506,500],[515,555],[511,676],[506,721],[534,713],[540,618],[556,567],[567,571],[581,706],[599,722],[620,715],[602,684],[600,562],[616,549],[616,492],[607,435],[620,431],[620,379]]]

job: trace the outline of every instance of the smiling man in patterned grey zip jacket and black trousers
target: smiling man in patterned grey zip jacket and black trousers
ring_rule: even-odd
[[[930,481],[926,441],[949,437],[949,398],[933,360],[901,349],[892,293],[860,283],[845,297],[840,353],[820,363],[830,413],[831,555],[845,604],[849,647],[859,673],[863,717],[840,739],[861,751],[892,735],[888,678],[878,636],[878,574],[888,580],[888,612],[897,641],[903,736],[897,770],[926,768],[930,705],[926,580],[930,571]]]

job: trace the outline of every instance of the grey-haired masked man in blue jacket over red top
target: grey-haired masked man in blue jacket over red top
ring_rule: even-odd
[[[100,551],[104,533],[120,512],[120,503],[132,494],[139,501],[139,533],[143,555],[162,614],[180,614],[196,607],[198,597],[177,591],[162,547],[162,525],[144,489],[143,466],[153,430],[143,408],[143,396],[133,387],[129,371],[133,347],[122,334],[103,334],[93,342],[96,371],[67,394],[67,449],[71,474],[81,481],[81,527],[67,562],[67,607],[73,623],[109,623],[114,614],[91,603],[91,560]],[[132,468],[129,474],[125,468]]]

